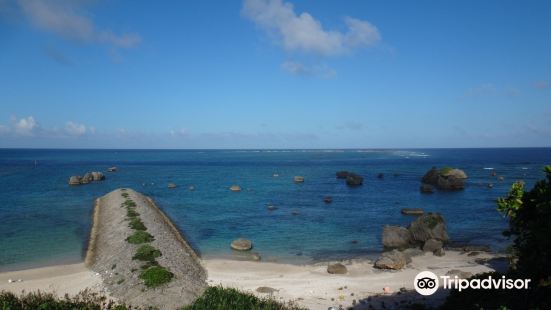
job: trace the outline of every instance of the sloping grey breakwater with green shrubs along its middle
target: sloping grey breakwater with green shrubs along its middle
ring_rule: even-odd
[[[147,237],[136,242],[136,236]],[[152,249],[146,253],[152,257],[140,259],[143,249]],[[108,294],[142,307],[175,309],[207,286],[199,257],[174,224],[149,197],[131,189],[96,200],[85,264],[101,275]],[[148,284],[144,272],[154,267],[167,271],[167,283]]]

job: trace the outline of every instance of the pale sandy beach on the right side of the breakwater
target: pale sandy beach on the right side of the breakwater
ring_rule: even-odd
[[[378,270],[366,260],[350,261],[345,263],[348,269],[345,275],[328,274],[327,264],[297,266],[222,259],[209,259],[203,263],[208,271],[209,285],[222,284],[257,296],[268,296],[256,292],[258,287],[267,286],[278,290],[273,294],[278,300],[294,300],[309,309],[325,310],[339,305],[346,308],[352,305],[354,299],[359,302],[368,296],[382,294],[384,287],[390,287],[393,293],[402,287],[412,290],[415,276],[423,270],[437,275],[445,275],[451,269],[473,274],[491,271],[490,267],[475,262],[477,258],[490,257],[485,253],[470,257],[457,251],[448,251],[443,257],[429,253],[413,257],[408,268],[401,271]],[[415,297],[422,297],[414,294]]]

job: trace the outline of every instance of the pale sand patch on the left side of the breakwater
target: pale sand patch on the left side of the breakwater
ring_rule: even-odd
[[[10,279],[15,282],[9,283]],[[63,297],[76,295],[87,288],[99,293],[103,286],[101,277],[83,263],[0,273],[0,291],[16,294],[40,290]]]

